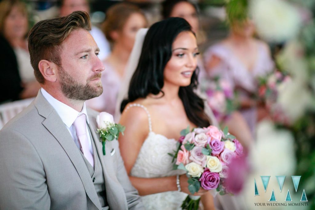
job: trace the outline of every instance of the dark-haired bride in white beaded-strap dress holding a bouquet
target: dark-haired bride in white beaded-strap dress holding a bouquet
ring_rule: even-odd
[[[204,102],[197,88],[195,34],[182,18],[153,24],[121,105],[126,126],[119,147],[129,178],[147,209],[180,209],[189,193],[185,172],[172,170],[168,153],[176,149],[180,131],[207,127]],[[131,109],[131,110],[130,110]],[[179,176],[180,175],[180,176]],[[215,209],[212,195],[200,189],[204,209]]]

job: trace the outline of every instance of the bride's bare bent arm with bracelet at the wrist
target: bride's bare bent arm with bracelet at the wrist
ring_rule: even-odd
[[[140,195],[177,190],[176,176],[163,178],[139,178],[130,176],[132,167],[140,152],[141,146],[149,133],[148,116],[143,108],[133,107],[125,110],[120,118],[120,124],[126,126],[124,135],[119,136],[119,149],[132,185]],[[186,175],[180,176],[183,192],[189,193]],[[198,195],[206,190],[200,189]]]

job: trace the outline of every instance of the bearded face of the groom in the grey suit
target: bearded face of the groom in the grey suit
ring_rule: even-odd
[[[61,44],[57,80],[67,98],[85,101],[102,94],[100,76],[105,67],[97,57],[99,51],[91,34],[84,29],[72,31]]]

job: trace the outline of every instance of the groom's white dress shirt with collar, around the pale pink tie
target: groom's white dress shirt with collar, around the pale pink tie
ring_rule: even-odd
[[[87,122],[87,124],[89,124],[89,118],[88,118],[88,114],[86,112],[85,102],[83,104],[82,111],[78,112],[77,110],[75,110],[75,109],[69,107],[68,105],[55,99],[53,96],[51,96],[43,88],[41,88],[41,92],[42,92],[43,96],[45,97],[45,99],[56,110],[56,112],[60,116],[63,123],[66,125],[68,131],[70,132],[72,138],[74,139],[74,143],[77,145],[77,147],[79,149],[81,149],[79,139],[77,137],[77,132],[76,132],[76,129],[73,125],[73,122],[74,122],[74,120],[77,119],[77,116],[79,116],[80,114],[85,114],[86,115],[86,122]],[[89,135],[88,126],[86,126],[86,133],[88,134],[87,136],[88,136],[88,141],[89,141],[89,150],[90,150],[91,154],[93,155],[92,142],[91,142],[91,137]]]

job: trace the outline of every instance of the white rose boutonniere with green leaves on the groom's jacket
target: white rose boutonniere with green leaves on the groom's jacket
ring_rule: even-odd
[[[114,139],[118,139],[119,133],[121,132],[123,134],[123,131],[125,130],[125,126],[116,124],[114,122],[114,118],[111,114],[107,112],[101,112],[96,117],[96,123],[97,123],[97,133],[100,135],[100,142],[102,142],[103,145],[103,155],[106,155],[105,152],[105,143],[106,140],[112,141]]]

